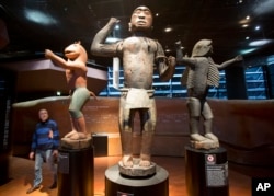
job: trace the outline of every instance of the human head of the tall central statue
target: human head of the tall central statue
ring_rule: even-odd
[[[137,7],[128,23],[129,32],[150,32],[152,30],[152,12],[149,8],[141,5]]]

